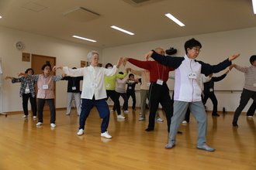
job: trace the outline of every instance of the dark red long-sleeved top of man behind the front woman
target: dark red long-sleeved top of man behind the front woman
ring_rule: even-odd
[[[132,58],[129,58],[128,61],[135,66],[149,70],[150,82],[157,82],[158,79],[167,82],[169,78],[169,72],[175,70],[169,66],[161,65],[160,63],[157,63],[157,61],[140,61]]]

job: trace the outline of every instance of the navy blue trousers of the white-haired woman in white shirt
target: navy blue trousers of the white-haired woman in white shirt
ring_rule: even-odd
[[[104,133],[109,127],[109,106],[106,99],[95,100],[95,97],[93,97],[92,100],[82,99],[79,129],[85,129],[85,121],[94,106],[99,112],[99,117],[102,118],[101,132]]]

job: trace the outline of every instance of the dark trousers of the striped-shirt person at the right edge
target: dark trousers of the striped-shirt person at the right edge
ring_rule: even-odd
[[[250,99],[256,102],[256,91],[243,89],[243,92],[241,93],[240,97],[240,104],[237,107],[237,110],[235,110],[233,121],[238,120],[238,117],[240,116],[242,110],[244,109],[244,107],[246,106]]]

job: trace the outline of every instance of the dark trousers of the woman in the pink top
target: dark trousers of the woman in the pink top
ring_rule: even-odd
[[[47,102],[50,107],[50,124],[55,124],[56,110],[54,106],[54,99],[38,99],[38,122],[43,123],[43,107],[45,102]]]

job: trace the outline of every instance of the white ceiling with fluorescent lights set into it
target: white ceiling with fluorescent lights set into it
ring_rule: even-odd
[[[256,27],[251,0],[150,0],[137,7],[126,1],[0,0],[0,15],[3,17],[0,26],[102,49]],[[95,12],[99,17],[81,22],[63,15],[78,7]],[[171,22],[164,15],[166,13],[174,15],[185,27]],[[110,28],[113,25],[135,35]],[[74,39],[73,35],[97,42]]]

